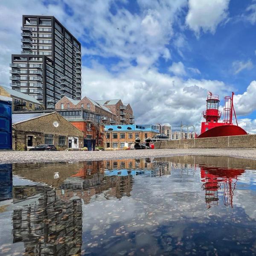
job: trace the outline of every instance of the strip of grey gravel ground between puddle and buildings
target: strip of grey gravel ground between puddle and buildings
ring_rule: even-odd
[[[125,151],[0,151],[0,163],[41,163],[171,157],[175,155],[228,156],[256,160],[255,148],[189,148]]]

